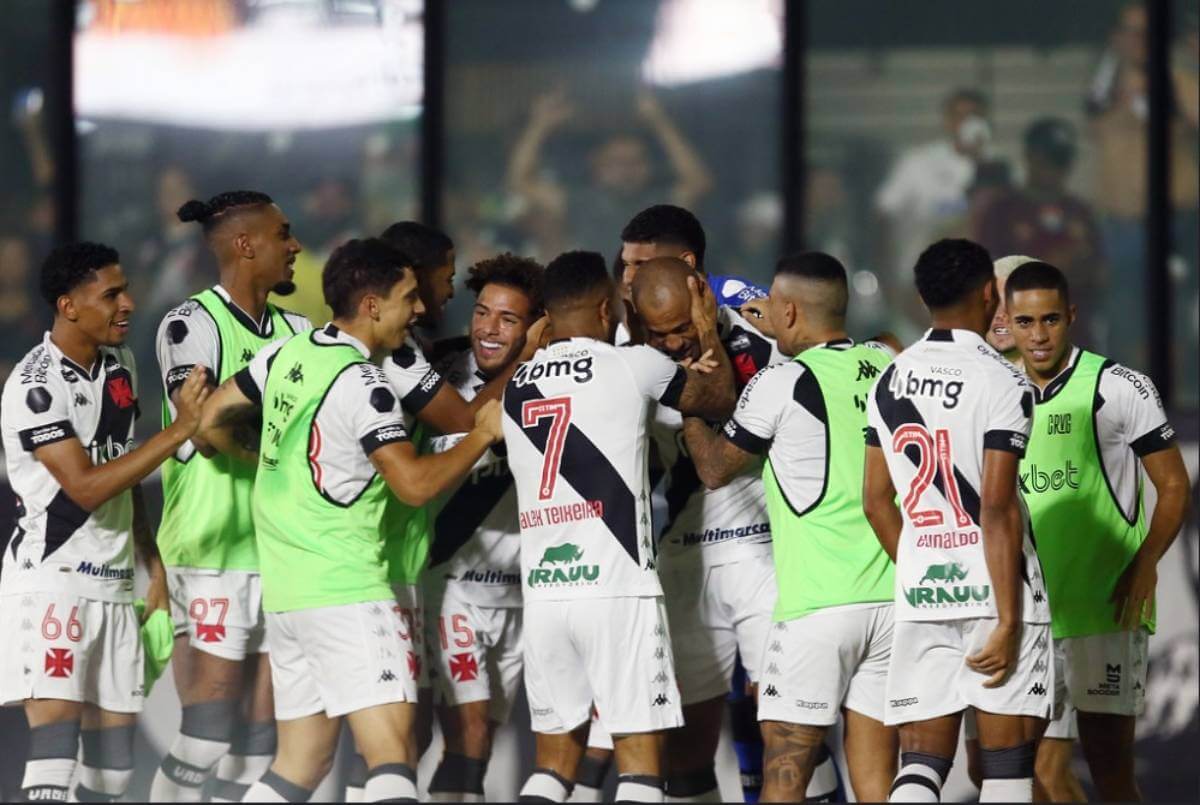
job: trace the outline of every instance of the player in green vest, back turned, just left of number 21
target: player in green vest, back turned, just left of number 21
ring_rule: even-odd
[[[763,801],[798,801],[841,713],[859,800],[881,801],[898,738],[883,725],[893,572],[862,507],[865,400],[890,350],[846,334],[846,270],[808,252],[782,258],[768,305],[794,360],[750,380],[720,431],[684,422],[710,488],[757,469],[761,456],[779,595],[763,643],[758,719]]]

